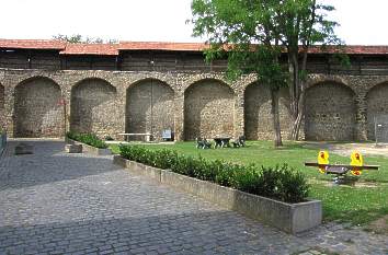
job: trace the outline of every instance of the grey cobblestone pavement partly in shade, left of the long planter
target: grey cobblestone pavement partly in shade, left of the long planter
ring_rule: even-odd
[[[388,237],[327,224],[293,236],[132,175],[111,157],[64,153],[0,160],[0,254],[388,254]]]

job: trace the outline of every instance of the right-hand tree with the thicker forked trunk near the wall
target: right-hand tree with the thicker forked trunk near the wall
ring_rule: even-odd
[[[287,49],[289,70],[289,96],[293,127],[290,139],[298,140],[300,124],[305,115],[305,92],[307,79],[307,57],[309,48],[316,44],[341,45],[334,34],[339,24],[327,19],[332,5],[317,3],[317,0],[279,1],[276,24],[282,45]],[[346,62],[346,57],[342,58]]]

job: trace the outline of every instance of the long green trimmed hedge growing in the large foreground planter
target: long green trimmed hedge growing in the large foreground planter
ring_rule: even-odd
[[[202,157],[179,155],[173,150],[148,150],[141,146],[121,144],[119,150],[121,155],[130,161],[170,169],[178,174],[286,202],[304,201],[309,192],[306,177],[286,164],[275,167],[246,166],[220,160],[209,161]]]

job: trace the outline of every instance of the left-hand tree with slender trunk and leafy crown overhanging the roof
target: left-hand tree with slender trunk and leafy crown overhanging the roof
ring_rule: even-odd
[[[228,56],[227,76],[256,73],[259,82],[271,91],[271,113],[275,147],[282,146],[278,93],[286,85],[279,62],[279,31],[274,25],[277,0],[194,0],[192,3],[195,36],[207,36],[208,61]],[[271,7],[271,8],[269,8]]]

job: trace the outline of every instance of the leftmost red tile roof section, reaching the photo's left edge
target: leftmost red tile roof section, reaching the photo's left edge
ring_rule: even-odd
[[[64,49],[65,42],[54,39],[0,39],[0,48]]]

